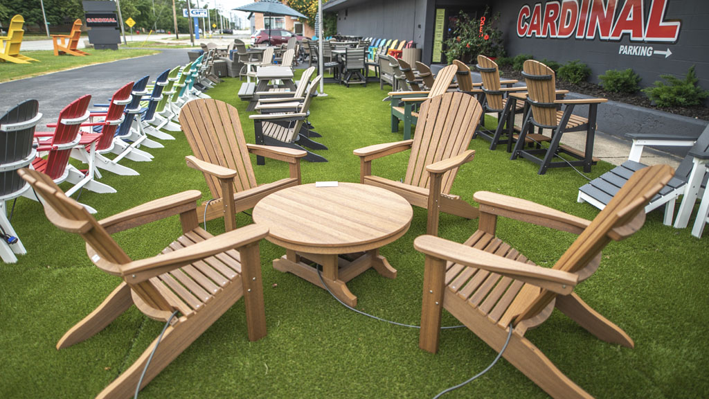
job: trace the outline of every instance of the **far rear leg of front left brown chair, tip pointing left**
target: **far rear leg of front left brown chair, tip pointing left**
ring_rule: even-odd
[[[64,337],[57,342],[57,349],[66,348],[93,337],[108,324],[111,324],[116,317],[128,310],[130,305],[133,305],[130,287],[123,282],[106,297],[104,302],[101,302],[99,307],[96,307],[93,312],[64,334]]]

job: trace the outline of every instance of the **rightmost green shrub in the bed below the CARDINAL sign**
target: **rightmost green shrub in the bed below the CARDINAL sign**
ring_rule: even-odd
[[[709,95],[709,92],[697,86],[699,80],[694,73],[694,65],[689,68],[684,80],[672,75],[660,77],[669,84],[658,80],[654,86],[642,89],[657,106],[698,106]]]

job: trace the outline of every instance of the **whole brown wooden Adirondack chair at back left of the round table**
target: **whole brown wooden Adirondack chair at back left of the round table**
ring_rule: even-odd
[[[213,198],[199,207],[199,222],[203,222],[206,207],[206,220],[224,217],[225,229],[231,231],[236,228],[238,212],[251,209],[272,192],[301,183],[300,158],[306,152],[247,144],[239,112],[233,106],[215,99],[195,99],[182,107],[179,121],[194,153],[185,157],[187,165],[204,173]],[[250,153],[284,160],[289,163],[290,176],[257,185]]]

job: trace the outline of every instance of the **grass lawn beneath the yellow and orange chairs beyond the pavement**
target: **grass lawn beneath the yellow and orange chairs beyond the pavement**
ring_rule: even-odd
[[[141,57],[143,55],[151,55],[159,53],[158,50],[151,49],[122,49],[122,50],[94,50],[93,48],[84,49],[86,55],[84,57],[74,57],[73,55],[54,55],[52,50],[40,51],[20,51],[20,54],[26,55],[29,58],[34,58],[39,62],[30,61],[29,64],[13,64],[11,62],[0,62],[0,82],[9,80],[18,80],[24,77],[46,75],[50,72],[61,70],[70,70],[84,65],[101,64],[103,62],[111,62],[123,60],[124,58]]]

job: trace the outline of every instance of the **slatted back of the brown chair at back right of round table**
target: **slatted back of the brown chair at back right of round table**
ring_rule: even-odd
[[[460,92],[448,92],[423,102],[403,182],[428,188],[426,166],[466,151],[481,114],[479,102]],[[443,175],[441,192],[450,192],[457,172],[458,168],[454,168]]]

